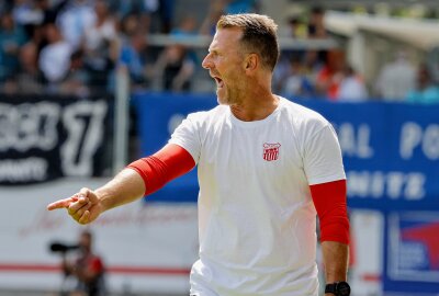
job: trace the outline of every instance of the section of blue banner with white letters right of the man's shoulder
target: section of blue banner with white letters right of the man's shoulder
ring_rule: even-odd
[[[439,204],[439,106],[306,103],[335,126],[349,205],[430,209]]]

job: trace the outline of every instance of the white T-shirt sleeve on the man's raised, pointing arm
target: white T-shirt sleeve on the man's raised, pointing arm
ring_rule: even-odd
[[[184,148],[199,162],[201,140],[194,114],[190,114],[172,133],[169,144],[176,144]]]

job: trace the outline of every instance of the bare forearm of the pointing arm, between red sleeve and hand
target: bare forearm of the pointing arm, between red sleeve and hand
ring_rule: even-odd
[[[113,180],[95,190],[103,210],[134,202],[144,196],[145,182],[132,169],[124,169]]]

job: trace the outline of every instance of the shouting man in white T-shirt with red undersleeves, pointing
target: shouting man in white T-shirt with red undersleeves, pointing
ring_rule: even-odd
[[[327,295],[349,295],[340,148],[320,115],[271,93],[275,32],[266,15],[222,16],[202,64],[216,81],[219,105],[189,115],[160,151],[104,186],[82,189],[48,209],[67,208],[87,224],[198,164],[200,260],[191,295],[316,296],[316,212]]]

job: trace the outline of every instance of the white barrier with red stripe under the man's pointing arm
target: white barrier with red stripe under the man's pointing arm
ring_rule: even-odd
[[[60,288],[60,257],[49,251],[49,243],[75,243],[83,226],[65,210],[47,212],[45,206],[105,181],[64,179],[0,187],[0,289]],[[90,226],[110,291],[188,294],[189,270],[198,255],[196,206],[140,203],[105,213]]]

